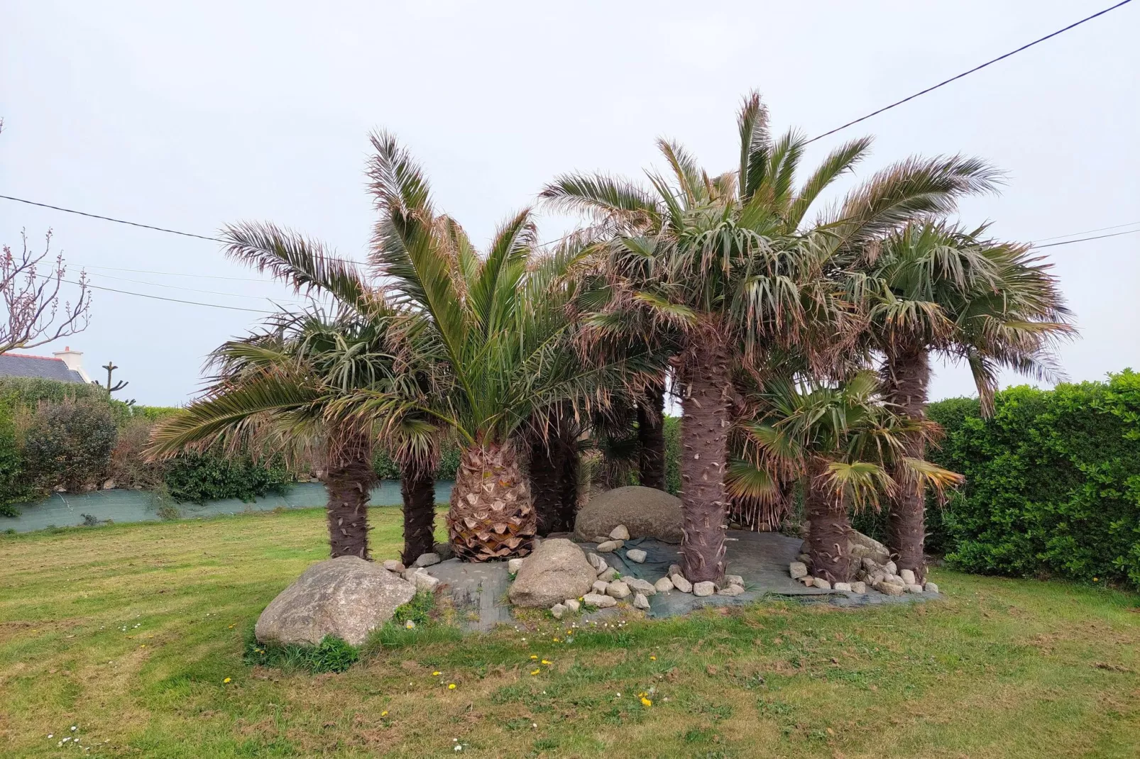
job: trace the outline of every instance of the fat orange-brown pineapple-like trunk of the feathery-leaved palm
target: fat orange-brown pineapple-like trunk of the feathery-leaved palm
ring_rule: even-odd
[[[464,561],[526,556],[537,520],[514,446],[475,443],[459,456],[447,529]]]

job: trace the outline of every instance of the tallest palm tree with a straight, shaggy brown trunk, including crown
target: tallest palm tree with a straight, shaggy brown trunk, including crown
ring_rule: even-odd
[[[853,190],[838,212],[805,225],[820,194],[866,154],[868,139],[836,150],[797,181],[806,139],[772,139],[759,96],[738,120],[740,165],[709,176],[683,148],[661,140],[671,176],[649,174],[651,189],[605,174],[568,174],[542,193],[556,207],[587,214],[609,235],[613,296],[588,321],[605,334],[629,329],[630,313],[650,344],[676,346],[682,406],[685,574],[724,576],[727,430],[732,372],[797,346],[815,367],[833,362],[854,321],[825,275],[848,251],[915,214],[947,212],[958,196],[987,189],[994,174],[961,158],[910,160]]]

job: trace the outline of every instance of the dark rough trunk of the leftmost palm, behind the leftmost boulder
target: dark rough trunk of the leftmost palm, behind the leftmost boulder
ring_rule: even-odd
[[[366,435],[331,431],[325,491],[328,503],[328,545],[332,557],[368,560],[368,496],[376,483],[372,446]]]

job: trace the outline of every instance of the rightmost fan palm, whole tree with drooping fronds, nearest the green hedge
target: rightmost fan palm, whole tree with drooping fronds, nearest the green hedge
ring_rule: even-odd
[[[930,354],[970,367],[983,413],[993,408],[997,369],[1056,376],[1052,345],[1073,334],[1069,311],[1027,245],[984,238],[947,223],[912,223],[888,235],[860,263],[860,297],[869,303],[866,337],[882,356],[886,398],[914,422],[926,418]],[[926,456],[926,440],[906,440],[906,455]],[[925,578],[926,501],[899,489],[891,500],[888,546],[901,569]]]

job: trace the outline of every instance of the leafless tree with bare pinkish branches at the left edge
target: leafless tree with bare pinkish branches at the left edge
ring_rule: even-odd
[[[0,319],[0,352],[35,348],[74,335],[87,329],[90,321],[91,291],[87,272],[81,270],[74,283],[64,279],[67,267],[63,253],[56,254],[54,261],[48,258],[51,230],[44,235],[42,252],[28,247],[26,232],[21,231],[21,239],[23,245],[18,254],[5,245],[0,256],[0,297],[5,309]],[[74,304],[60,299],[64,283],[79,286]]]

